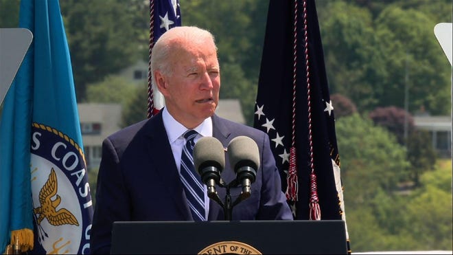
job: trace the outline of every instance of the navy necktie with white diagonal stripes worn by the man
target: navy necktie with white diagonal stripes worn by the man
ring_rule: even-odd
[[[200,176],[195,172],[194,158],[194,138],[198,133],[189,130],[184,133],[185,146],[181,153],[181,181],[183,181],[187,203],[195,221],[206,221],[205,217],[205,189]]]

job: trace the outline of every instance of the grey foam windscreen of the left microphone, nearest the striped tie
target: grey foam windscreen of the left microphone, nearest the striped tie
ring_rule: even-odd
[[[200,168],[215,166],[219,171],[225,168],[225,153],[222,143],[216,137],[201,137],[194,146],[194,166]]]

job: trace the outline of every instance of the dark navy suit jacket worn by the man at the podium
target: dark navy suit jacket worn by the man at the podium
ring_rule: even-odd
[[[213,137],[227,148],[239,135],[251,137],[259,148],[260,166],[251,197],[233,207],[234,220],[291,220],[292,213],[281,191],[281,179],[266,133],[213,115]],[[227,153],[222,179],[235,179]],[[217,187],[220,199],[225,188]],[[242,191],[231,188],[231,200]],[[224,220],[215,201],[209,204],[209,221]],[[91,228],[91,252],[108,253],[114,221],[193,221],[172,148],[163,126],[162,113],[128,126],[102,143],[97,177],[95,212]]]

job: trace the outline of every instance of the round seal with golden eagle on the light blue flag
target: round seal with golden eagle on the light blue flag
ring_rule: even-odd
[[[93,206],[82,148],[66,134],[32,124],[34,250],[89,254]]]

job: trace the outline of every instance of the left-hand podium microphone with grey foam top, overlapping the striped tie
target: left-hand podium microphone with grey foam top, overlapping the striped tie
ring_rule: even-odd
[[[222,143],[216,137],[201,137],[194,146],[194,166],[206,184],[208,196],[217,194],[216,184],[225,168],[225,155]]]

